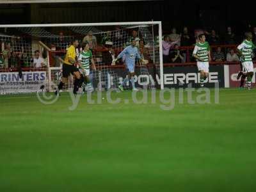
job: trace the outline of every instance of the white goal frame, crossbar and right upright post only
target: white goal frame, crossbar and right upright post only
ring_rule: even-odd
[[[77,26],[122,26],[122,25],[158,25],[159,35],[159,67],[160,67],[160,85],[164,89],[163,76],[163,47],[162,47],[162,22],[145,21],[145,22],[95,22],[95,23],[72,23],[72,24],[4,24],[0,28],[46,28],[46,27],[77,27]],[[49,65],[49,63],[47,64]],[[50,66],[47,66],[48,68]]]

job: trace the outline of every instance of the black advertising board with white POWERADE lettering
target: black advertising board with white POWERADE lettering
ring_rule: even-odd
[[[112,68],[113,74],[116,74],[119,79],[118,83],[122,83],[122,80],[125,76],[127,76],[126,70],[122,68]],[[145,70],[143,70],[145,72]],[[152,68],[148,71],[148,74],[140,74],[140,68],[136,68],[135,71],[135,84],[136,86],[143,87],[148,84],[156,84],[157,87],[160,86],[160,76],[156,74],[154,76],[154,72]],[[197,87],[200,82],[200,73],[197,71],[197,67],[164,67],[164,87],[168,88],[178,88],[178,87],[187,87],[188,84],[191,83],[193,87]],[[102,79],[102,81],[106,81],[105,84],[111,83],[113,81],[113,76],[109,74],[108,78]],[[108,81],[108,79],[112,79]],[[95,81],[95,79],[93,79]],[[205,86],[214,87],[215,83],[219,83],[220,87],[224,86],[224,69],[223,66],[212,66],[209,68],[209,77],[205,80]],[[97,83],[93,83],[96,85]],[[127,85],[129,85],[127,83]]]

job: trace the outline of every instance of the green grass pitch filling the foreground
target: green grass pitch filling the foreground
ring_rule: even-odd
[[[74,111],[68,93],[52,105],[1,96],[0,191],[255,191],[256,90],[221,89],[220,104],[175,96],[171,111],[159,96],[83,95]]]

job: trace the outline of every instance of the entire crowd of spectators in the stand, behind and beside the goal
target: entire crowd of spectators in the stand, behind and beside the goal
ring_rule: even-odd
[[[256,44],[256,27],[252,28],[252,32],[253,43]],[[187,48],[184,49],[184,47],[190,47],[189,54],[191,54],[193,45],[197,42],[196,36],[200,33],[205,34],[206,40],[209,42],[210,46],[213,45],[211,49],[212,61],[239,61],[239,57],[236,54],[236,45],[241,43],[243,38],[239,38],[230,26],[227,27],[227,31],[222,35],[214,29],[211,29],[210,31],[202,29],[191,31],[185,26],[180,31],[177,31],[176,28],[172,28],[169,34],[163,35],[163,62],[184,63],[188,61],[188,51],[186,51]],[[58,43],[67,44],[64,39],[65,35],[63,34],[63,31],[60,31],[59,36],[60,39],[58,40]],[[81,42],[88,42],[90,49],[92,50],[101,46],[105,49],[105,51],[102,52],[102,63],[104,65],[113,65],[111,61],[115,58],[115,55],[118,54],[113,47],[124,48],[131,44],[131,39],[136,40],[136,47],[140,50],[141,56],[143,56],[145,60],[152,61],[147,42],[145,42],[142,36],[138,35],[138,31],[135,29],[132,29],[132,31],[129,32],[122,30],[120,26],[116,26],[114,31],[109,31],[108,33],[105,33],[104,36],[96,36],[93,35],[92,31],[89,31],[83,38],[81,38]],[[227,48],[219,45],[227,45],[227,47],[229,45],[231,46]],[[192,58],[191,61],[193,61]],[[28,56],[28,53],[23,50],[19,52],[13,51],[11,44],[6,42],[3,51],[0,52],[0,68],[20,66],[35,68],[44,67],[45,60],[42,57],[42,52],[36,50],[33,52],[33,56],[31,56],[31,54]]]

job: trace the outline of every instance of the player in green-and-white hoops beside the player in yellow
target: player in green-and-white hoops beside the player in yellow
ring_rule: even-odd
[[[84,90],[88,92],[92,92],[93,87],[90,80],[90,63],[92,63],[93,70],[96,70],[94,60],[92,58],[92,51],[90,51],[90,46],[88,42],[84,42],[82,44],[82,50],[79,54],[78,61],[79,61],[79,70],[81,74],[84,76],[84,83],[82,87]]]

